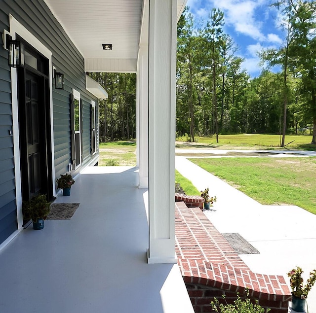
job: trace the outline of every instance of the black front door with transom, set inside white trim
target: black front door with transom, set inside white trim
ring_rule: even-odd
[[[18,69],[18,108],[22,200],[34,195],[53,197],[48,61],[26,52]],[[29,61],[29,64],[27,63]]]

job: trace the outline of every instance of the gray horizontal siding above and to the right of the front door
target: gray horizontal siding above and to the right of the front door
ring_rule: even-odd
[[[70,101],[72,88],[80,92],[83,106],[83,158],[90,159],[90,115],[86,102],[97,101],[85,89],[84,60],[42,0],[4,0],[11,13],[52,51],[52,62],[65,75],[65,90],[53,88],[55,174],[64,174],[71,160]],[[1,89],[0,89],[1,90]],[[64,139],[64,142],[61,140]],[[69,147],[69,148],[68,148]],[[62,165],[62,167],[60,166]],[[66,165],[66,166],[65,166]]]

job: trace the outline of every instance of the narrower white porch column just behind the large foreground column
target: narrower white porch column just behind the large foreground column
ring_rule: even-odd
[[[139,188],[148,188],[148,45],[139,47]]]

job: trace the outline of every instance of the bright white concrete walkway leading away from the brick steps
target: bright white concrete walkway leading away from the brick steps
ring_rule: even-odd
[[[239,255],[255,273],[283,275],[303,269],[305,281],[316,268],[316,215],[297,206],[263,206],[185,157],[176,156],[176,169],[198,190],[209,187],[217,202],[204,213],[220,233],[239,233],[260,254]],[[308,296],[316,313],[316,285]]]

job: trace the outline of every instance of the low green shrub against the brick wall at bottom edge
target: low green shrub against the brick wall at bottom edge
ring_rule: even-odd
[[[264,309],[259,304],[258,301],[255,301],[255,304],[251,302],[248,298],[249,291],[247,291],[247,298],[241,299],[237,293],[237,300],[234,301],[234,304],[220,304],[217,298],[214,298],[214,301],[211,302],[212,308],[215,312],[221,313],[265,313],[269,312],[270,309]],[[225,299],[225,295],[223,295]]]

